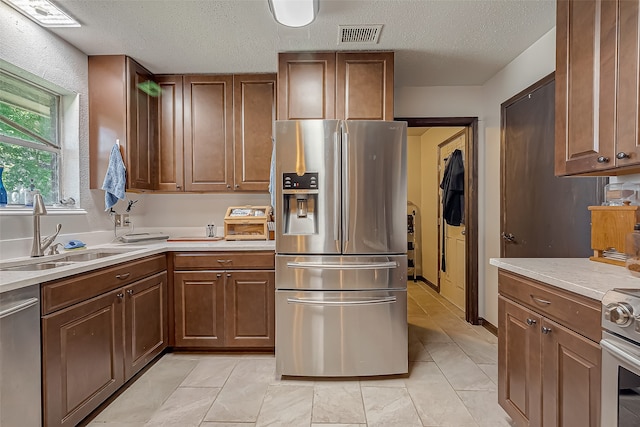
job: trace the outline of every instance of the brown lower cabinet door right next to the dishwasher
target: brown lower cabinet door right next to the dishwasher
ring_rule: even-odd
[[[122,290],[42,318],[44,424],[75,426],[124,383]]]

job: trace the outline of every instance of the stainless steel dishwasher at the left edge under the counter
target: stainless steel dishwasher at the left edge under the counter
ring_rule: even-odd
[[[0,426],[42,425],[40,285],[0,293]]]

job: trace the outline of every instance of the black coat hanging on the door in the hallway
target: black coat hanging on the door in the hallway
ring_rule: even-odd
[[[455,150],[449,157],[440,183],[444,220],[459,226],[464,221],[464,163],[462,151]]]

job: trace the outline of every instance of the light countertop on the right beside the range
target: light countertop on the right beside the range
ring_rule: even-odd
[[[640,288],[640,278],[617,265],[588,258],[491,258],[491,265],[602,301],[613,288]]]

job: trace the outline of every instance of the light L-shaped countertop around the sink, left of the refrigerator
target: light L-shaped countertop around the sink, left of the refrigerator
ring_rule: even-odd
[[[138,242],[131,244],[106,244],[87,247],[86,251],[94,250],[122,250],[118,253],[106,258],[99,258],[92,261],[74,262],[49,270],[39,271],[0,271],[0,293],[24,288],[27,286],[49,282],[51,280],[62,279],[74,274],[86,273],[98,268],[109,267],[111,265],[120,264],[122,262],[132,261],[149,255],[155,255],[165,252],[201,252],[201,251],[273,251],[275,250],[274,240],[238,240],[227,241],[220,240],[216,242]],[[73,251],[65,251],[64,254],[80,253],[85,249],[76,249]],[[55,260],[64,255],[52,255],[38,258],[38,261]],[[14,258],[0,262],[1,267],[19,264],[20,262],[29,261],[33,263],[35,258]]]

